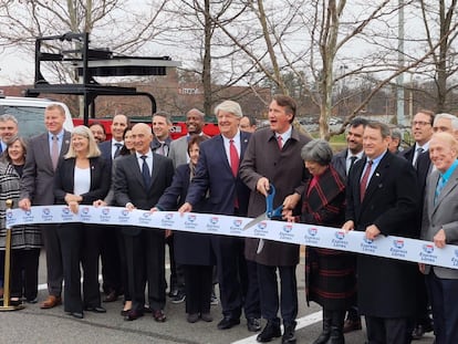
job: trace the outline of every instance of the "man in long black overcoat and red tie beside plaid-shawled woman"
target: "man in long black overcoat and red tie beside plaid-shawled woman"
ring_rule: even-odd
[[[346,222],[343,229],[364,231],[367,240],[379,234],[418,237],[419,209],[414,167],[387,150],[389,128],[369,122],[364,129],[366,158],[347,178]],[[368,343],[410,342],[415,313],[415,273],[410,262],[358,254],[358,311],[365,315]]]

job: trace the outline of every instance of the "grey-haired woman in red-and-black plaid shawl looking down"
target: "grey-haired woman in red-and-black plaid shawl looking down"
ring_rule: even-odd
[[[341,228],[345,212],[345,181],[330,165],[327,142],[314,139],[301,150],[311,174],[302,195],[302,211],[290,220]],[[323,332],[314,344],[344,343],[345,310],[355,302],[355,258],[352,253],[308,247],[305,250],[305,292],[308,304],[323,307]]]

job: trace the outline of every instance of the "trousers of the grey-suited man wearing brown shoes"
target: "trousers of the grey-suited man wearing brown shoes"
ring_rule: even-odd
[[[59,225],[42,225],[41,238],[46,253],[46,279],[50,295],[61,296],[63,281],[63,263],[61,241],[58,234]]]

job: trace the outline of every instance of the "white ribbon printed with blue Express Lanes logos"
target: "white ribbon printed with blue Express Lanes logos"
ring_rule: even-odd
[[[80,206],[74,215],[66,206],[32,207],[29,211],[7,211],[7,226],[31,223],[85,222],[94,225],[140,226],[148,228],[191,231],[198,233],[235,236],[275,240],[288,243],[335,249],[431,265],[458,269],[458,246],[438,249],[430,241],[402,237],[383,237],[367,240],[364,232],[332,227],[283,221],[261,221],[243,230],[250,218],[177,211],[128,211],[119,207]]]

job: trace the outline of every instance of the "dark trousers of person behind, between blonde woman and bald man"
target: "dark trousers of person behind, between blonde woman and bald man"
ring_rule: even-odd
[[[119,249],[115,226],[101,226],[102,290],[105,294],[122,293]]]

